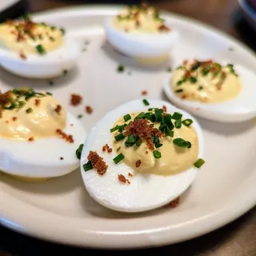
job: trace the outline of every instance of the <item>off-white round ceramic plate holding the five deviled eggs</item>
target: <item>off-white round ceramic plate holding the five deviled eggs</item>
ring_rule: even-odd
[[[70,94],[82,94],[84,105],[94,108],[93,114],[85,114],[81,119],[87,131],[106,111],[142,98],[142,90],[148,91],[148,99],[164,98],[166,66],[158,70],[141,68],[106,43],[102,19],[117,10],[84,6],[36,15],[38,21],[64,26],[70,36],[84,42],[78,67],[58,79],[54,86],[1,70],[2,89],[32,86],[50,90],[73,114],[84,113],[84,106],[71,107]],[[253,52],[218,30],[176,14],[165,15],[181,33],[180,42],[171,54],[170,66],[193,57],[214,57],[249,68],[256,66]],[[87,41],[90,44],[86,44]],[[124,73],[117,73],[118,64],[126,66]],[[164,207],[146,214],[106,210],[86,193],[79,170],[38,184],[18,182],[0,174],[2,225],[70,245],[138,248],[181,242],[233,221],[256,202],[256,120],[235,125],[198,121],[205,136],[206,164],[193,186],[182,195],[177,208]]]

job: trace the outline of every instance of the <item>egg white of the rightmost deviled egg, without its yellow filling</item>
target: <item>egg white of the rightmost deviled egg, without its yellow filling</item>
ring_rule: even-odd
[[[236,98],[226,102],[203,103],[179,98],[170,88],[172,74],[164,80],[163,90],[175,106],[201,118],[216,122],[244,122],[256,117],[256,75],[243,66],[234,66],[242,89]]]

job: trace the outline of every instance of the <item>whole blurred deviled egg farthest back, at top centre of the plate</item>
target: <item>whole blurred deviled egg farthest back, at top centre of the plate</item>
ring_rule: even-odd
[[[120,14],[106,18],[106,38],[115,49],[143,63],[166,61],[178,39],[154,7],[128,6]]]

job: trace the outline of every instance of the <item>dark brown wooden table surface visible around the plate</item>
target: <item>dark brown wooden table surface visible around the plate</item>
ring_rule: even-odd
[[[49,10],[100,1],[30,0],[30,11]],[[105,1],[110,2],[110,1]],[[114,2],[114,1],[112,1]],[[122,2],[122,1],[116,1]],[[127,2],[127,1],[126,1]],[[256,51],[256,37],[238,10],[236,0],[166,0],[151,1],[154,6],[197,18],[233,35]],[[1,207],[1,206],[0,206]],[[0,226],[0,256],[63,254],[88,255],[95,250],[70,248],[28,238]],[[238,220],[201,238],[173,246],[135,251],[97,251],[98,254],[158,254],[174,256],[256,256],[256,207]]]

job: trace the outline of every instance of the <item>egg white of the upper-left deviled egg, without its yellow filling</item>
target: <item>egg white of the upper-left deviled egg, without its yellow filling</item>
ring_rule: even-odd
[[[10,73],[25,78],[55,78],[63,70],[71,70],[80,54],[80,47],[74,38],[64,38],[63,46],[46,54],[28,54],[26,59],[19,54],[0,48],[0,66]]]

